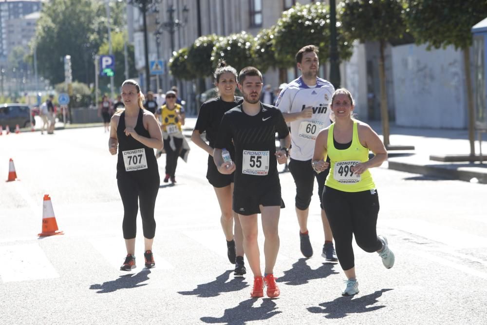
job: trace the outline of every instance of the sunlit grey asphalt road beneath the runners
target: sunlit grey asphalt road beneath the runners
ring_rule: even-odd
[[[378,233],[392,269],[355,247],[360,293],[342,297],[344,275],[320,256],[315,194],[308,228],[315,250],[299,250],[292,176],[281,173],[281,297],[251,299],[252,277],[234,278],[226,258],[206,154],[190,143],[175,186],[156,202],[156,268],[124,273],[116,156],[103,128],[0,136],[0,176],[13,158],[20,181],[0,182],[2,324],[486,324],[487,185],[374,169]],[[165,156],[159,160],[164,174]],[[38,239],[42,198],[64,235]],[[140,217],[138,229],[141,229]],[[262,249],[262,235],[260,238]],[[263,261],[262,261],[263,262]],[[263,265],[263,263],[262,263]],[[250,271],[250,270],[249,270]]]

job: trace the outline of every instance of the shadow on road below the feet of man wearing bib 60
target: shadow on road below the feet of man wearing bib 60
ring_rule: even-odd
[[[286,285],[299,286],[308,283],[310,280],[326,278],[331,274],[338,274],[339,272],[333,269],[334,263],[323,263],[317,269],[311,269],[306,264],[306,258],[300,258],[298,262],[293,264],[290,270],[284,271],[284,276],[277,279],[277,282],[284,282]]]

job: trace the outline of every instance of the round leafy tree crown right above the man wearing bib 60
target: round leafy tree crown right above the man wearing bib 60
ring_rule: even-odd
[[[320,2],[306,5],[297,3],[283,12],[274,29],[273,45],[277,65],[294,66],[298,50],[310,44],[318,46],[319,60],[325,62],[330,57],[329,19],[328,6]],[[337,26],[337,43],[340,60],[350,58],[352,42],[341,26]]]

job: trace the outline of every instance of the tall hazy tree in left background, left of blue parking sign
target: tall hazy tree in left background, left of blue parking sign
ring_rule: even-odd
[[[112,28],[122,28],[125,3],[111,4]],[[39,73],[52,83],[64,80],[62,57],[71,55],[73,79],[94,80],[94,55],[108,38],[105,2],[51,0],[44,2],[32,49],[37,47]],[[120,24],[120,25],[116,25]]]

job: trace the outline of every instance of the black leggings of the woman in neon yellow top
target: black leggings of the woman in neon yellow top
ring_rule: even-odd
[[[372,253],[382,248],[375,229],[379,213],[377,191],[344,192],[325,186],[323,207],[343,270],[355,266],[352,235],[355,235],[358,247],[366,252]]]

